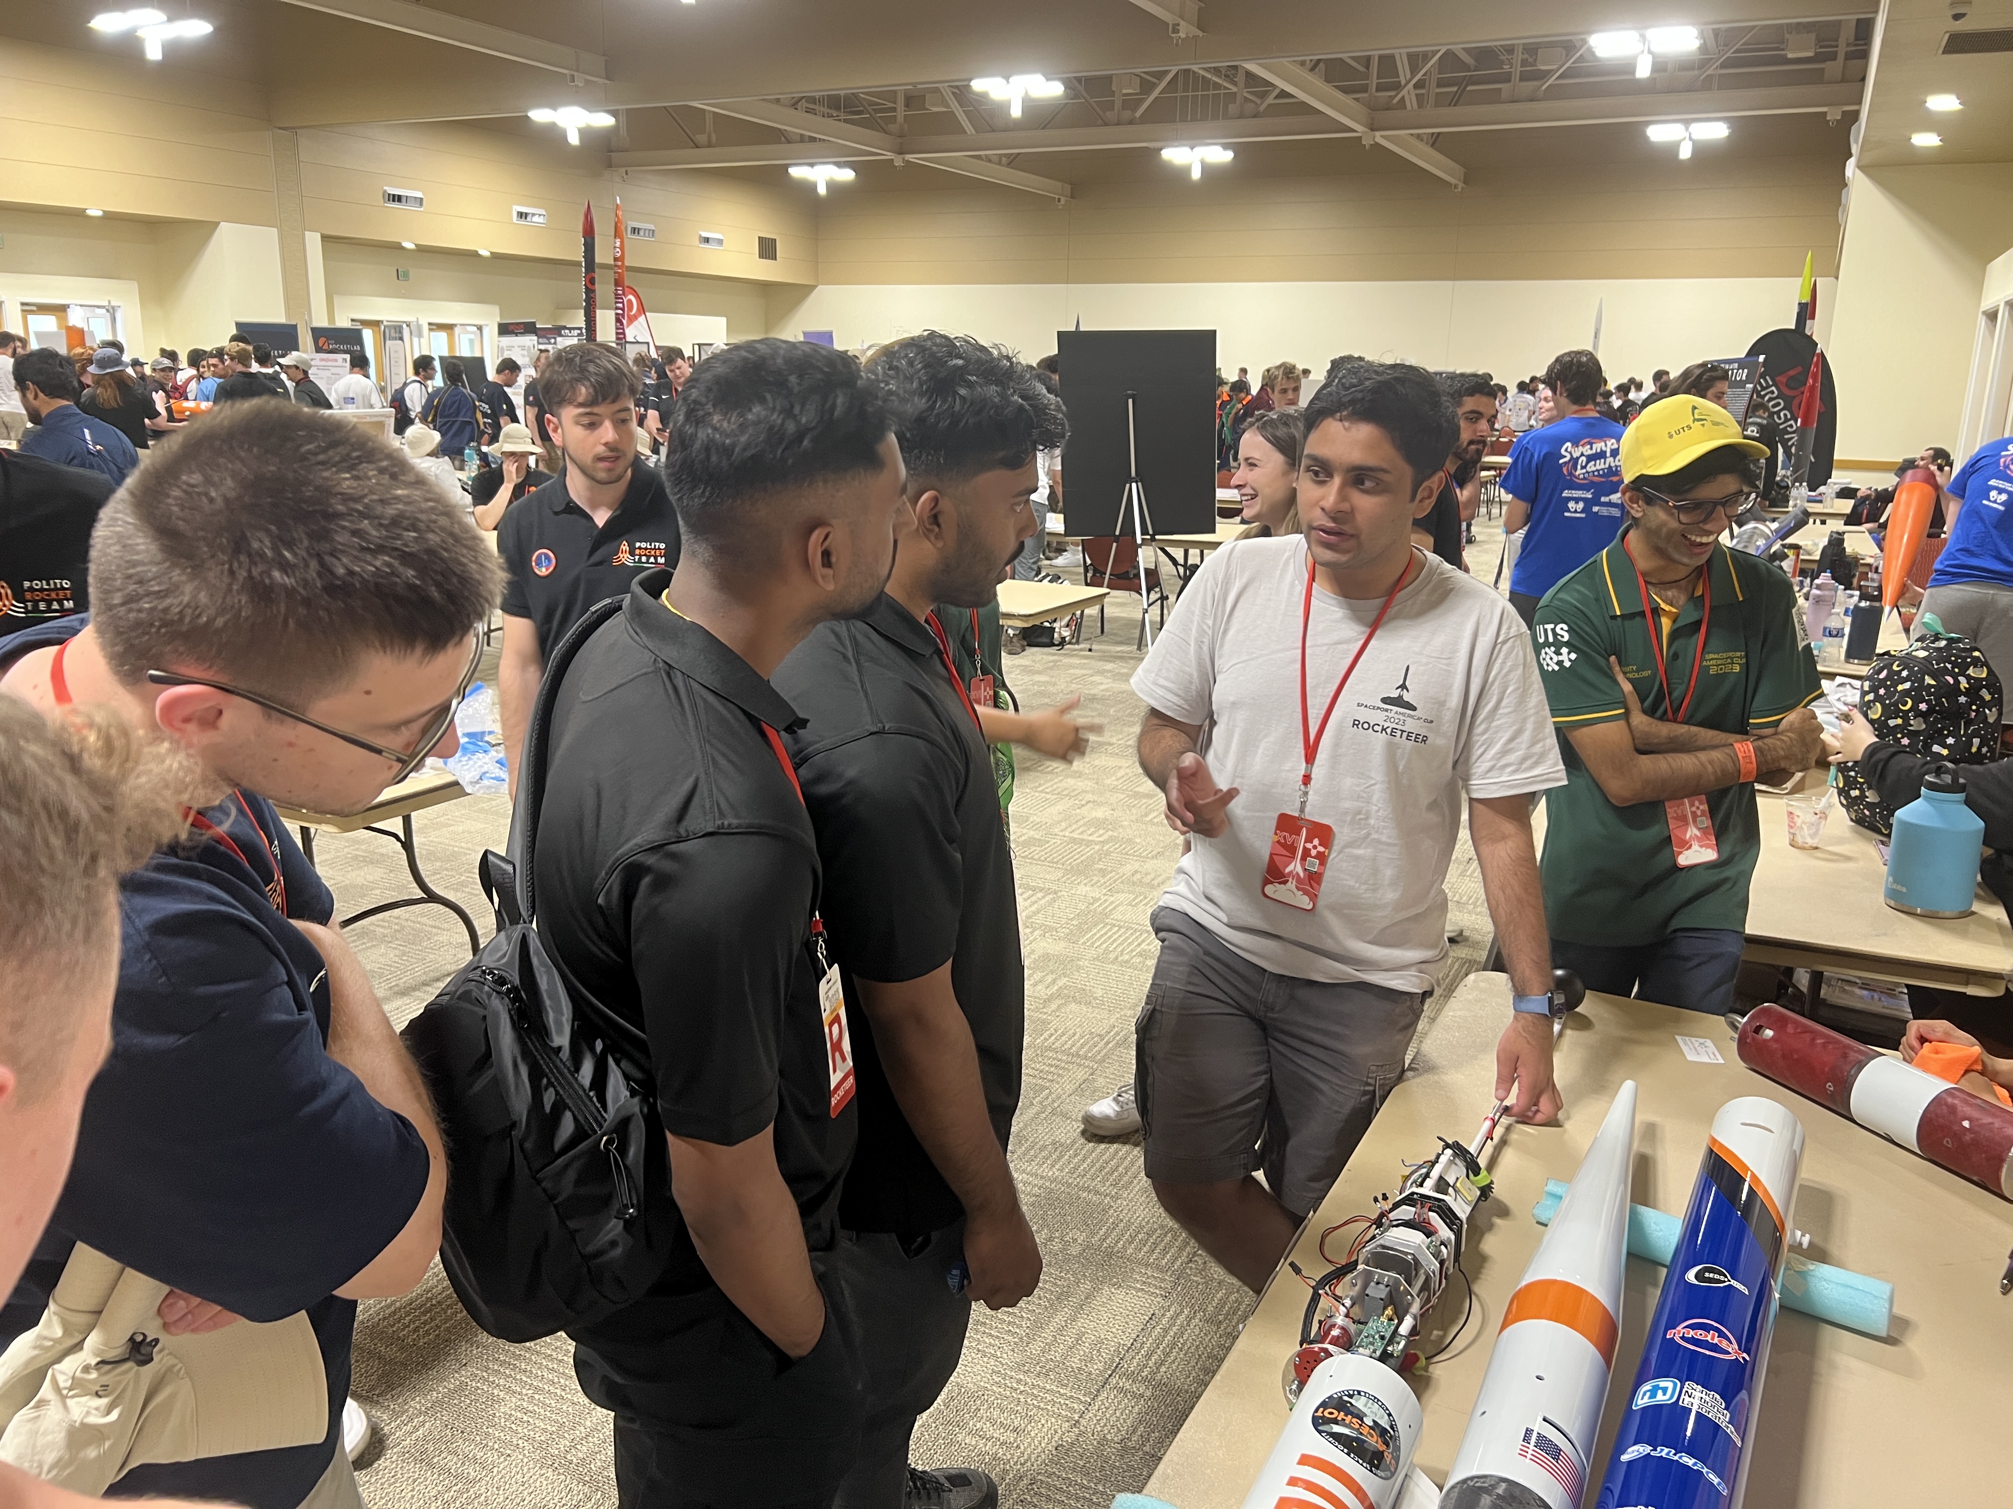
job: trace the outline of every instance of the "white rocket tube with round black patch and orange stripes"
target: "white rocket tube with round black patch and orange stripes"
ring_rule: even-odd
[[[1244,1509],[1393,1509],[1425,1422],[1405,1380],[1355,1352],[1331,1356],[1244,1495]]]

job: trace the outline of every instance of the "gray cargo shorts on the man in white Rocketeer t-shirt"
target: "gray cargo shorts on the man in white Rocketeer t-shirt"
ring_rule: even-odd
[[[1200,1185],[1264,1173],[1310,1213],[1399,1074],[1425,996],[1272,974],[1174,907],[1133,1024],[1145,1177]]]

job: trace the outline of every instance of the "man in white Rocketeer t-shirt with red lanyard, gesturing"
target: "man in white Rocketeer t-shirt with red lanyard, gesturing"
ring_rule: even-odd
[[[1133,676],[1139,767],[1190,835],[1135,1028],[1145,1173],[1252,1290],[1403,1072],[1463,795],[1516,992],[1496,1095],[1560,1107],[1530,805],[1566,773],[1516,612],[1411,543],[1453,443],[1423,368],[1335,370],[1306,404],[1304,533],[1216,551]]]

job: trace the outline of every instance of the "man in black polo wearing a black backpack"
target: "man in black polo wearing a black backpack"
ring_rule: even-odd
[[[860,1441],[831,1274],[856,1080],[799,718],[765,678],[880,600],[914,513],[880,392],[827,346],[709,362],[666,459],[684,561],[558,692],[535,879],[568,980],[648,1034],[680,1225],[652,1292],[574,1332],[574,1368],[614,1410],[624,1509],[823,1509]]]

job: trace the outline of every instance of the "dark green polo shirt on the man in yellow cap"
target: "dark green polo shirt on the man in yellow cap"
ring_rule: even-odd
[[[1645,712],[1671,716],[1657,676],[1657,642],[1622,539],[1552,588],[1532,626],[1566,761],[1566,785],[1546,795],[1546,919],[1552,938],[1574,944],[1655,944],[1679,928],[1745,932],[1747,881],[1761,853],[1753,787],[1707,793],[1719,857],[1679,869],[1665,805],[1610,803],[1566,736],[1572,728],[1627,718],[1608,656],[1620,662]],[[1765,734],[1822,694],[1818,664],[1796,632],[1796,588],[1779,567],[1725,545],[1705,569],[1713,616],[1685,722]],[[1665,674],[1679,702],[1691,682],[1703,620],[1705,596],[1695,594],[1671,628]]]

